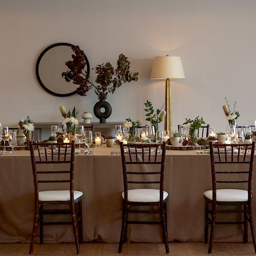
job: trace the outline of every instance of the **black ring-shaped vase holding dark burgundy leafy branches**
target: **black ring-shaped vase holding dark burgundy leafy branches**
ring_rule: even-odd
[[[114,93],[115,90],[122,85],[122,83],[137,81],[138,73],[130,72],[130,61],[127,60],[123,54],[119,55],[117,60],[117,68],[114,69],[110,62],[97,65],[93,70],[97,77],[95,85],[89,80],[87,75],[86,59],[84,52],[79,46],[73,46],[72,50],[75,54],[72,55],[73,60],[66,62],[68,71],[62,73],[62,77],[65,77],[67,82],[73,81],[78,88],[77,94],[86,96],[90,89],[94,89],[96,95],[98,95],[99,101],[94,106],[94,115],[100,119],[100,123],[105,123],[106,118],[110,117],[112,108],[109,102],[106,102],[106,96],[108,93]],[[104,112],[101,112],[101,108]]]

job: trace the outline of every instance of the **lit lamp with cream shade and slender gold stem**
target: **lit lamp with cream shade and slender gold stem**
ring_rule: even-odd
[[[164,130],[172,133],[172,104],[170,79],[185,78],[181,58],[177,56],[155,57],[151,79],[165,79],[165,111]]]

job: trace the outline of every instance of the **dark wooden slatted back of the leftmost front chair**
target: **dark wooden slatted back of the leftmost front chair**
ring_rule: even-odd
[[[29,145],[35,200],[38,201],[39,184],[67,183],[70,190],[70,202],[74,203],[74,141],[55,144],[30,142]],[[52,168],[52,165],[54,165],[54,168]]]

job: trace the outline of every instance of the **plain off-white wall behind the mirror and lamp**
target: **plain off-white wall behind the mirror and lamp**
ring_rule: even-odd
[[[155,56],[181,56],[186,79],[172,82],[173,123],[202,116],[225,130],[225,96],[237,101],[238,123],[256,119],[256,1],[254,0],[0,0],[0,121],[13,125],[29,115],[58,121],[59,105],[93,113],[97,97],[55,97],[35,76],[37,57],[51,44],[80,46],[90,66],[120,53],[139,72],[108,97],[108,121],[144,118],[144,102],[159,108],[164,81],[150,80]],[[91,72],[91,78],[95,75]],[[75,86],[74,86],[75,90]],[[81,120],[79,115],[79,119]],[[98,121],[94,117],[93,121]]]

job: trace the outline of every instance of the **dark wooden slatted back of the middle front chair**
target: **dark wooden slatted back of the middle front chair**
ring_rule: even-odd
[[[165,143],[120,143],[124,200],[127,200],[127,190],[130,184],[137,184],[145,188],[145,184],[159,184],[160,203],[163,202],[164,165],[165,165]],[[161,155],[159,155],[161,151]],[[131,170],[134,165],[144,165],[143,170]],[[154,166],[155,170],[147,170],[148,166]],[[142,178],[143,177],[143,181]],[[154,176],[154,180],[151,177]],[[141,187],[142,186],[142,187]]]

